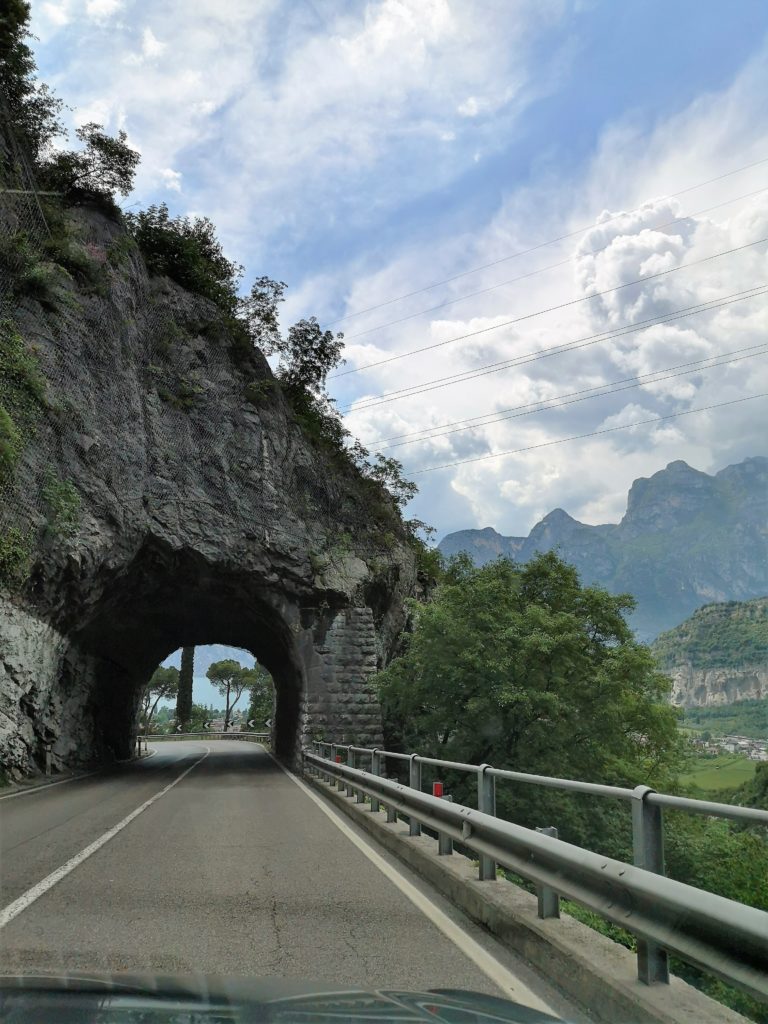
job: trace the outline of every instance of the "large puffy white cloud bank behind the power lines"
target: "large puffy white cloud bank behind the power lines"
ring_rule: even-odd
[[[420,475],[430,466],[472,458],[475,453],[549,444],[571,435],[624,427],[638,420],[686,413],[768,391],[765,353],[736,353],[715,369],[683,368],[680,376],[664,380],[660,378],[669,374],[658,374],[667,368],[765,344],[765,296],[598,341],[518,369],[465,378],[460,384],[382,406],[365,408],[365,395],[426,385],[437,377],[466,374],[486,361],[514,358],[553,343],[588,338],[765,283],[768,246],[764,242],[728,256],[710,258],[768,236],[768,193],[726,202],[763,184],[761,168],[678,198],[666,194],[655,169],[666,168],[671,191],[760,159],[768,152],[768,133],[757,117],[756,97],[766,88],[768,74],[756,62],[722,93],[708,97],[707,103],[696,101],[650,134],[608,126],[594,161],[583,175],[567,182],[557,176],[524,189],[511,189],[502,208],[476,232],[471,247],[465,239],[457,239],[454,246],[443,247],[436,264],[430,262],[426,249],[413,247],[408,253],[398,253],[390,267],[356,283],[349,293],[349,309],[377,305],[387,297],[406,294],[419,282],[449,279],[467,266],[493,263],[505,253],[527,248],[548,234],[565,233],[569,225],[584,226],[592,221],[592,226],[585,226],[574,241],[471,275],[471,289],[468,280],[461,278],[426,295],[355,317],[355,330],[365,332],[377,323],[394,319],[398,312],[451,300],[471,290],[482,290],[483,286],[493,287],[505,278],[569,260],[517,285],[460,302],[447,312],[425,314],[351,340],[348,352],[352,366],[354,360],[375,361],[484,326],[504,324],[529,311],[584,299],[564,309],[500,327],[487,335],[339,378],[335,382],[338,393],[356,403],[348,417],[349,426],[367,444],[417,429],[428,434],[430,428],[462,418],[573,394],[596,384],[633,383],[638,376],[657,375],[647,386],[569,402],[546,413],[517,415],[504,422],[488,423],[485,416],[471,431],[433,434],[419,443],[387,450],[388,455],[403,462],[407,474],[417,474],[422,493],[414,503],[416,515],[437,518],[440,532],[462,526],[495,525],[503,532],[524,535],[539,517],[556,506],[587,522],[617,521],[632,480],[655,472],[668,462],[684,459],[697,468],[714,471],[729,462],[765,453],[765,404],[761,408],[761,402],[755,401]],[[734,153],[738,154],[736,161]],[[620,162],[621,183],[615,180],[613,157]],[[563,195],[573,198],[570,207],[563,206]],[[551,221],[549,210],[554,211]],[[673,220],[677,222],[671,224]],[[630,284],[683,263],[692,265],[646,283]],[[428,268],[428,274],[422,267]],[[616,291],[590,298],[608,289]],[[482,308],[483,313],[470,315],[473,306]],[[468,312],[462,313],[465,308]],[[446,498],[446,482],[453,499]]]

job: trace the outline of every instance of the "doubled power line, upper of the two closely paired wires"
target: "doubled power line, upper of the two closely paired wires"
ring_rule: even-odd
[[[573,341],[562,342],[559,345],[551,345],[549,348],[543,348],[539,351],[523,352],[520,355],[515,355],[508,359],[501,359],[498,362],[488,362],[484,366],[475,367],[471,370],[464,370],[458,374],[450,374],[446,377],[433,378],[430,381],[423,381],[421,384],[415,384],[407,388],[399,388],[395,391],[386,391],[381,395],[372,395],[370,398],[362,399],[362,401],[358,404],[352,404],[347,409],[342,410],[342,412],[366,412],[369,409],[376,409],[378,406],[386,406],[390,401],[399,401],[402,398],[413,398],[418,394],[426,394],[429,391],[437,391],[444,387],[451,387],[453,384],[464,384],[466,381],[475,380],[478,377],[487,377],[490,374],[501,373],[504,370],[512,370],[518,366],[525,366],[528,362],[537,362],[540,359],[551,358],[554,355],[562,355],[566,352],[578,351],[582,348],[589,348],[592,345],[600,344],[603,341],[622,338],[629,334],[637,334],[639,331],[645,331],[650,327],[657,327],[662,324],[671,324],[686,316],[695,316],[698,313],[710,312],[713,309],[720,309],[723,306],[733,305],[734,303],[742,302],[745,299],[757,298],[760,295],[765,295],[768,289],[755,285],[752,288],[744,289],[740,292],[731,292],[727,295],[720,296],[717,299],[710,299],[706,302],[697,302],[691,306],[684,306],[681,309],[675,309],[671,313],[657,313],[647,319],[638,321],[635,324],[626,324],[624,327],[614,328],[611,331],[601,331],[597,334],[577,338]]]

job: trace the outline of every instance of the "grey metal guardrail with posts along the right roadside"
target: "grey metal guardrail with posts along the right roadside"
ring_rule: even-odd
[[[341,743],[312,745],[314,752],[304,752],[307,770],[329,782],[336,780],[357,802],[369,796],[372,810],[384,804],[388,821],[401,812],[409,818],[411,836],[419,836],[422,825],[435,829],[439,853],[452,853],[453,841],[461,842],[479,857],[480,881],[496,879],[499,863],[532,882],[540,916],[559,916],[562,895],[632,932],[637,937],[638,977],[646,984],[669,982],[668,953],[673,952],[768,1001],[768,913],[668,879],[662,809],[766,826],[768,812],[658,794],[645,785],[629,790],[418,754]],[[342,752],[347,764],[341,763]],[[370,758],[370,771],[357,767],[360,756]],[[387,759],[409,762],[408,785],[383,777]],[[425,764],[474,773],[477,809],[422,793]],[[565,843],[549,829],[532,830],[496,817],[497,778],[631,802],[634,864]]]

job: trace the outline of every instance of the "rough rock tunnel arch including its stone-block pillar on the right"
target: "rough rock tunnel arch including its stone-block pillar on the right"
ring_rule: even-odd
[[[292,763],[302,741],[329,725],[378,737],[373,625],[369,608],[318,606],[289,596],[280,580],[148,544],[70,636],[90,662],[88,706],[102,757],[130,756],[140,691],[162,660],[181,646],[222,643],[250,651],[270,673],[273,748]]]

